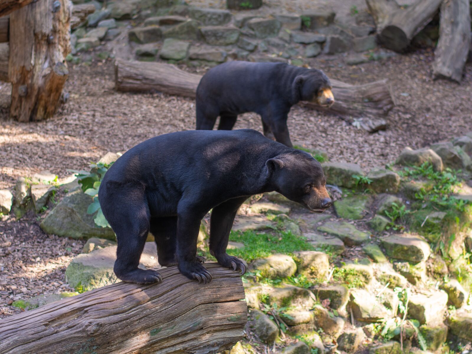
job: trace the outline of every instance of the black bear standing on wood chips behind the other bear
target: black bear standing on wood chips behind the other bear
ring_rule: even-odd
[[[284,63],[230,61],[203,75],[196,93],[196,128],[231,130],[238,114],[256,112],[264,135],[292,147],[287,128],[290,108],[299,101],[334,103],[329,78],[317,69]]]

